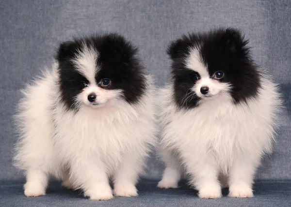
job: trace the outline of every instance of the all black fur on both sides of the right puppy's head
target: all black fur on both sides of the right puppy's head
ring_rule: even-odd
[[[187,90],[195,84],[194,81],[191,82],[193,77],[185,68],[185,59],[189,56],[190,49],[195,47],[199,48],[199,54],[207,65],[210,77],[217,71],[224,72],[224,77],[219,81],[231,85],[230,95],[235,104],[256,97],[260,88],[260,74],[249,55],[247,44],[248,41],[244,40],[241,32],[232,28],[192,33],[172,43],[168,54],[173,60],[174,96],[178,106],[189,108],[198,105],[199,98],[187,99],[190,102],[187,106],[181,101]]]

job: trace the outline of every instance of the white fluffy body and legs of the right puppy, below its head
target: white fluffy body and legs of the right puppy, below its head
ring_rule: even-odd
[[[255,172],[261,157],[272,149],[278,123],[282,103],[277,86],[262,76],[259,96],[247,103],[217,96],[188,110],[177,110],[173,92],[172,84],[160,92],[166,169],[158,187],[177,187],[185,168],[200,198],[222,196],[219,175],[227,177],[229,196],[252,197]]]

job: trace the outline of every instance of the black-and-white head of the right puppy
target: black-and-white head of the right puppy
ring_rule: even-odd
[[[168,48],[174,98],[179,107],[228,96],[234,103],[254,97],[259,72],[249,57],[248,41],[234,29],[184,35]]]

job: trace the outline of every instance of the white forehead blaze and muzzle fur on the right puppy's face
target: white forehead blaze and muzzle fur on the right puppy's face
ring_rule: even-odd
[[[186,58],[186,67],[200,75],[200,79],[196,81],[194,87],[192,88],[198,97],[202,99],[209,99],[210,97],[214,97],[218,94],[228,94],[231,86],[227,83],[221,83],[218,80],[211,78],[214,74],[209,74],[207,65],[205,65],[202,61],[199,48],[192,48],[190,50],[190,54]],[[208,87],[209,92],[205,95],[202,94],[200,92],[202,87]]]

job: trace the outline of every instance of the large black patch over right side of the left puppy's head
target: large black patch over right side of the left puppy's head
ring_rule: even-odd
[[[145,75],[137,49],[117,34],[104,36],[98,45],[97,65],[101,70],[96,82],[108,78],[112,84],[107,89],[122,89],[128,103],[136,103],[146,89]]]

